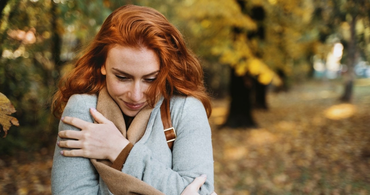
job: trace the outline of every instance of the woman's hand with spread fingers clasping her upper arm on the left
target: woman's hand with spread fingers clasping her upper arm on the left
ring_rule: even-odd
[[[80,128],[81,131],[60,131],[60,138],[77,139],[57,142],[61,148],[73,148],[63,150],[60,153],[66,157],[85,157],[95,159],[109,159],[114,162],[129,141],[112,121],[105,118],[95,108],[90,108],[92,117],[99,124],[83,121],[75,117],[64,117],[61,120],[65,124]]]

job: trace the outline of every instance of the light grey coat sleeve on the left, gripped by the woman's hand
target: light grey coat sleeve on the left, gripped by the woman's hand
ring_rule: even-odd
[[[91,101],[87,101],[91,100]],[[95,103],[94,103],[95,101]],[[91,105],[87,105],[87,102]],[[75,94],[70,97],[64,108],[62,117],[77,117],[84,121],[93,122],[89,109],[96,106],[96,98],[92,95]],[[80,129],[59,122],[59,131]],[[57,141],[67,139],[57,138]],[[83,157],[64,157],[62,149],[55,145],[53,168],[51,170],[52,194],[78,195],[99,194],[99,176],[90,159]]]

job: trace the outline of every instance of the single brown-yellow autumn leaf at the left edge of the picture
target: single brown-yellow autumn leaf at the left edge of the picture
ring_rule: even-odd
[[[14,112],[16,112],[16,109],[11,104],[10,100],[4,94],[0,93],[0,124],[5,132],[3,137],[6,137],[12,124],[19,126],[18,120],[10,116],[10,114]]]

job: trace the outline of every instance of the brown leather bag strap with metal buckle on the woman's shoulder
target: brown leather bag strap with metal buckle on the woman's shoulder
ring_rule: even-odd
[[[175,129],[172,127],[171,115],[169,111],[169,99],[165,98],[161,105],[161,118],[164,127],[164,134],[166,136],[167,144],[169,149],[174,147],[176,139]]]

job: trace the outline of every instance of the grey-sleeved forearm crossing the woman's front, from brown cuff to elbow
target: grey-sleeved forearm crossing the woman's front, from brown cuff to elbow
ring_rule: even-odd
[[[122,171],[141,179],[165,194],[181,194],[195,177],[207,174],[209,178],[200,193],[211,194],[213,191],[212,159],[185,156],[176,159],[183,162],[174,162],[175,168],[171,169],[166,163],[154,158],[147,146],[138,143],[132,148]]]

